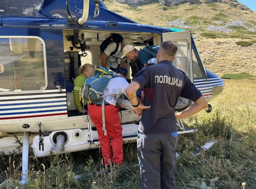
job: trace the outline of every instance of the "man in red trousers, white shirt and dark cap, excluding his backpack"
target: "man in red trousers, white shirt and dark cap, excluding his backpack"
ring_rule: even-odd
[[[102,128],[102,105],[90,103],[88,107],[90,118],[97,128],[102,156],[108,173],[111,170],[111,164],[114,164],[117,169],[123,163],[123,128],[118,115],[119,108],[116,106],[116,102],[121,94],[126,95],[125,88],[129,83],[124,79],[128,73],[126,68],[120,67],[117,73],[122,77],[110,79],[107,88],[104,90],[104,96],[106,96],[104,97],[104,105],[107,135],[105,135]],[[110,137],[112,148],[110,146]]]

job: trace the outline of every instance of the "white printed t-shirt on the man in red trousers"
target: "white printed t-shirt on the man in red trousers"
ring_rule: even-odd
[[[103,95],[105,96],[104,100],[107,101],[107,103],[115,106],[115,104],[117,103],[117,99],[121,94],[124,94],[126,96],[125,89],[128,85],[129,83],[123,77],[116,77],[110,79],[103,93]]]

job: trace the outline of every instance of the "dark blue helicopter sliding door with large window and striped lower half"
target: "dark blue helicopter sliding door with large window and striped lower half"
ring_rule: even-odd
[[[67,119],[62,30],[0,27],[0,49],[0,122]]]

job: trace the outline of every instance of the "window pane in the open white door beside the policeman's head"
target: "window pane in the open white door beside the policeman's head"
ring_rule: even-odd
[[[172,64],[174,67],[182,70],[186,75],[188,75],[187,43],[186,41],[176,41],[173,43],[177,45],[178,50],[175,56],[176,58],[173,60]]]

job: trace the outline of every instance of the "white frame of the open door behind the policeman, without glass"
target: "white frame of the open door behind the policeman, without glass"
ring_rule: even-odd
[[[162,33],[162,39],[164,41],[173,41],[173,42],[186,42],[187,48],[187,71],[188,71],[188,78],[193,83],[193,65],[192,65],[192,43],[191,43],[191,31],[179,31],[179,32],[168,32]]]

